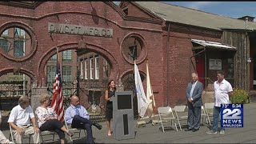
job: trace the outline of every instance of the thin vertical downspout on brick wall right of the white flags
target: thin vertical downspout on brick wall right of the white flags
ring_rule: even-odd
[[[168,34],[167,34],[167,43],[166,43],[166,65],[167,65],[167,90],[166,90],[166,106],[169,106],[169,95],[170,95],[170,74],[169,74],[169,53],[170,53],[170,23],[168,25]]]

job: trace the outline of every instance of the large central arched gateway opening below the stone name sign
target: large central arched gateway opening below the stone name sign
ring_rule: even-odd
[[[70,106],[70,96],[78,95],[81,105],[90,113],[90,118],[103,120],[106,109],[105,90],[113,73],[111,60],[100,52],[88,49],[64,50],[59,56],[62,62],[64,106]],[[44,68],[49,94],[53,91],[56,62],[54,54]]]

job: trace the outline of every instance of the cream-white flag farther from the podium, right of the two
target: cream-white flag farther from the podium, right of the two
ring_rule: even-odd
[[[147,115],[148,117],[151,117],[152,114],[154,113],[155,102],[154,94],[150,85],[150,72],[148,62],[146,62],[146,98],[149,102],[149,106],[147,107]]]

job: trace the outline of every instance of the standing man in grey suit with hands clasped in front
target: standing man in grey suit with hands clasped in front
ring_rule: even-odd
[[[198,81],[198,74],[192,73],[192,82],[186,88],[186,98],[188,106],[188,128],[185,131],[198,131],[200,128],[202,110],[202,82]]]

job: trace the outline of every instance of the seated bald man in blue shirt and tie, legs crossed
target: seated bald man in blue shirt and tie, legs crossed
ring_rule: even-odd
[[[91,126],[96,126],[98,130],[101,130],[102,126],[90,121],[90,115],[86,108],[79,104],[78,96],[73,95],[70,99],[71,106],[66,109],[64,116],[66,123],[71,124],[72,128],[85,129],[87,134],[86,143],[94,143]]]

